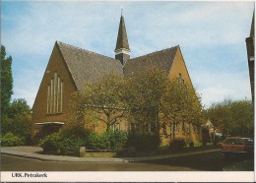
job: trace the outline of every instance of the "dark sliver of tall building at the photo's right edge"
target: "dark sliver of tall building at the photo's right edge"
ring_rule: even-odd
[[[250,75],[250,84],[251,84],[251,95],[252,101],[254,103],[254,12],[251,23],[250,36],[246,38],[246,49],[247,49],[247,58],[248,58],[248,67]]]

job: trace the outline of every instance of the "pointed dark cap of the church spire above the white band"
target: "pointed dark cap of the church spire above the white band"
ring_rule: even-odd
[[[122,48],[130,50],[123,16],[120,18],[115,51]]]

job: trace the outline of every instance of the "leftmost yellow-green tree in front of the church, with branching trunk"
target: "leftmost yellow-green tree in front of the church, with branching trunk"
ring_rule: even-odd
[[[124,117],[122,101],[123,78],[109,74],[94,84],[87,84],[82,91],[74,94],[71,121],[76,124],[102,122],[106,131]]]

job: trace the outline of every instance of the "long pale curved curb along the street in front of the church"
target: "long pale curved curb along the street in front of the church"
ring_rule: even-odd
[[[36,153],[25,153],[25,152],[14,152],[1,150],[2,154],[15,155],[20,157],[32,158],[37,160],[46,160],[46,161],[67,161],[67,162],[139,162],[147,160],[157,160],[170,157],[186,156],[199,153],[207,152],[219,152],[221,149],[216,150],[206,150],[200,152],[183,152],[179,154],[164,154],[164,155],[154,155],[154,156],[145,156],[145,157],[75,157],[75,156],[63,156],[63,155],[45,155],[45,154],[36,154]]]

